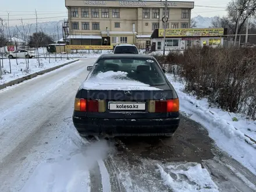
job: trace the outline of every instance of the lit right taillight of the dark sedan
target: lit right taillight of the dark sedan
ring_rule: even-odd
[[[155,112],[178,112],[179,106],[179,99],[159,100],[155,101]]]

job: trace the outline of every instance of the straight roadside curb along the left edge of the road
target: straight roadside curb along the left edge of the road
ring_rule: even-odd
[[[28,76],[24,76],[24,77],[21,77],[21,78],[16,79],[16,80],[9,81],[8,83],[1,84],[1,85],[0,85],[0,90],[2,90],[3,88],[9,87],[9,86],[13,86],[13,85],[15,85],[15,84],[22,83],[23,81],[32,79],[32,78],[34,78],[34,77],[37,77],[38,75],[51,72],[51,71],[53,71],[53,70],[55,70],[55,69],[59,69],[59,68],[65,66],[65,65],[69,65],[69,64],[74,63],[74,62],[77,62],[77,61],[79,61],[79,60],[80,60],[80,59],[74,59],[73,61],[64,63],[64,64],[62,64],[62,65],[58,65],[58,66],[55,66],[55,67],[51,67],[51,68],[49,68],[49,69],[41,70],[40,72],[36,72],[36,73],[33,73],[33,74],[29,74]]]

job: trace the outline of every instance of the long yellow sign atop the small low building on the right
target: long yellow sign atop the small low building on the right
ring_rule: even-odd
[[[163,37],[164,29],[158,30],[158,37]],[[223,28],[186,28],[186,29],[166,29],[165,37],[207,37],[221,36],[224,34]]]

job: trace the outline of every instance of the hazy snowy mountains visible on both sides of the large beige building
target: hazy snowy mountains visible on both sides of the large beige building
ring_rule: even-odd
[[[197,28],[208,28],[211,26],[212,20],[214,17],[202,17],[198,15],[197,17],[193,18],[197,22]],[[58,41],[62,38],[62,24],[63,20],[59,21],[50,21],[50,22],[41,22],[37,24],[38,31],[43,31],[46,34],[51,35],[52,38],[54,38],[55,41]],[[25,34],[31,35],[35,33],[36,31],[36,24],[26,24],[24,27]],[[16,37],[19,37],[24,40],[24,30],[23,26],[15,26],[10,27],[10,34],[15,34]],[[58,35],[59,31],[59,35]],[[7,30],[5,30],[5,33],[7,33]]]

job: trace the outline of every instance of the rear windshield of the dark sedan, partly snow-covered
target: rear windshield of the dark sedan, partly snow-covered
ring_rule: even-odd
[[[109,77],[109,73],[113,79],[139,81],[150,86],[166,83],[161,67],[153,59],[99,59],[90,78],[106,76],[104,74]]]

